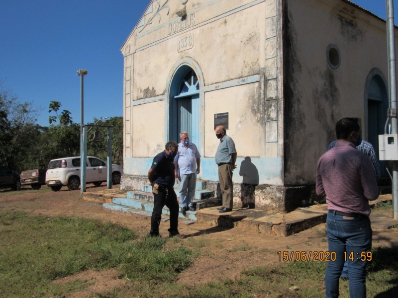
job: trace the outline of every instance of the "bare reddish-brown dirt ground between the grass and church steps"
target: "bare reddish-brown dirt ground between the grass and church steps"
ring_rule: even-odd
[[[0,212],[23,211],[32,215],[69,216],[99,219],[123,224],[144,236],[150,229],[150,218],[136,217],[120,213],[110,213],[102,209],[102,204],[80,199],[80,189],[70,191],[63,187],[59,192],[22,189],[19,192],[0,190]],[[88,191],[104,189],[88,187]],[[114,186],[119,188],[119,186]],[[378,213],[390,212],[377,210]],[[168,235],[169,222],[162,222],[160,233]],[[199,284],[209,281],[235,279],[247,268],[269,264],[283,264],[279,261],[281,251],[327,251],[325,224],[289,237],[265,235],[256,231],[239,228],[221,228],[205,224],[179,225],[180,233],[187,238],[181,240],[193,251],[199,251],[190,268],[178,277],[177,283]],[[374,229],[373,246],[390,247],[398,244],[398,228]],[[108,291],[130,281],[119,279],[116,270],[102,272],[86,271],[67,277],[56,283],[71,280],[86,280],[91,286],[85,292],[74,293],[73,298],[87,297],[89,293]],[[88,292],[89,293],[88,293]]]

